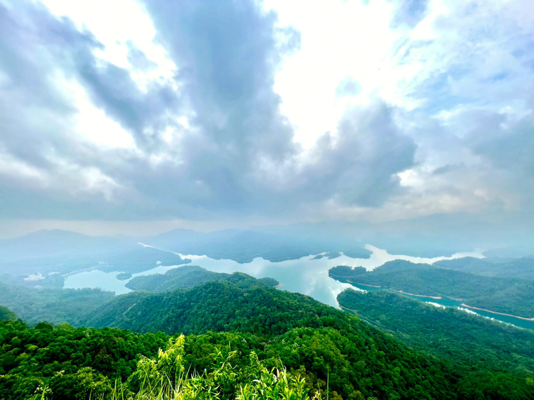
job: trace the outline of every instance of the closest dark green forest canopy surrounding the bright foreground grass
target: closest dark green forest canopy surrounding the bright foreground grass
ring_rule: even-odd
[[[5,399],[24,399],[45,387],[54,399],[86,399],[91,393],[94,398],[112,393],[117,380],[124,382],[121,388],[127,393],[139,393],[139,362],[153,365],[144,357],[154,359],[159,348],[174,340],[162,333],[107,328],[29,328],[20,321],[0,323],[0,337],[0,398]],[[274,337],[238,332],[188,335],[182,362],[187,376],[211,372],[220,361],[213,355],[219,353],[241,377],[256,354],[268,371],[285,365],[289,379],[299,375],[305,389],[325,395],[328,381],[329,398],[334,399],[455,398],[454,378],[441,363],[382,334],[347,335],[324,327],[297,328]],[[248,376],[239,382],[253,385],[260,377]],[[234,389],[222,398],[234,398]]]

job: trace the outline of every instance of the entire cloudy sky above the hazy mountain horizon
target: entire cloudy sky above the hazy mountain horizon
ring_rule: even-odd
[[[0,0],[0,238],[529,230],[533,109],[531,0]]]

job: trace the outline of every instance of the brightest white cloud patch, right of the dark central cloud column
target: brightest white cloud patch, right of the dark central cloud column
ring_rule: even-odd
[[[295,126],[295,141],[309,148],[333,130],[345,111],[368,103],[379,92],[389,100],[395,89],[383,84],[390,71],[391,44],[399,38],[389,29],[394,6],[376,1],[279,2],[266,1],[278,12],[280,25],[301,32],[301,49],[287,57],[276,75],[274,90],[281,110]],[[357,97],[336,97],[336,87],[347,78],[362,86]]]

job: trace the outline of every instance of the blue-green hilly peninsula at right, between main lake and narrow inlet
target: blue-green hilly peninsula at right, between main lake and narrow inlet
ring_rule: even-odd
[[[488,277],[404,260],[386,262],[372,271],[338,266],[330,269],[328,274],[342,282],[459,298],[472,307],[534,317],[534,279]]]

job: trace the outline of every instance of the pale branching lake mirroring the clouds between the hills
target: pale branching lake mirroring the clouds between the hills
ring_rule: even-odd
[[[366,245],[366,249],[372,252],[368,259],[351,258],[347,255],[328,259],[326,257],[313,259],[315,255],[309,255],[296,260],[286,260],[281,262],[271,262],[263,258],[255,258],[252,262],[240,264],[233,260],[215,260],[206,255],[179,254],[182,258],[191,259],[190,265],[198,265],[210,271],[233,273],[235,271],[244,272],[256,278],[271,277],[277,279],[282,284],[282,290],[307,294],[316,300],[328,305],[338,307],[337,294],[341,293],[350,284],[337,282],[328,276],[328,270],[337,265],[347,265],[351,267],[363,266],[367,270],[372,270],[381,266],[384,262],[391,260],[408,260],[417,263],[433,263],[439,260],[446,260],[460,257],[482,257],[480,251],[472,253],[457,253],[452,257],[421,258],[407,255],[388,254],[386,250]],[[142,273],[133,274],[132,277],[140,275],[164,274],[172,268],[180,266],[158,266]],[[124,271],[114,271],[105,273],[99,270],[84,271],[79,274],[69,275],[65,279],[66,288],[81,289],[82,287],[99,287],[103,290],[113,291],[116,294],[127,293],[130,290],[124,285],[128,281],[120,281],[117,274]]]

